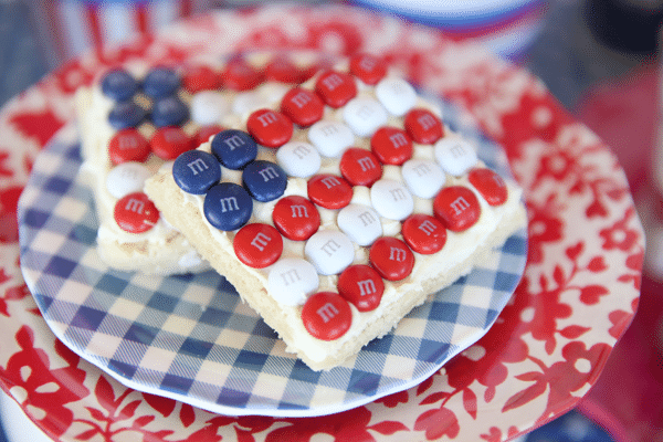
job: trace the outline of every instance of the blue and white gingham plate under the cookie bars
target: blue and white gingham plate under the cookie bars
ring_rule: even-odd
[[[511,175],[501,148],[457,109],[442,107],[445,123],[475,141],[482,160]],[[76,180],[81,162],[69,126],[38,157],[19,203],[21,267],[46,323],[126,386],[212,412],[324,415],[413,387],[488,330],[525,267],[523,225],[352,362],[316,372],[285,352],[223,276],[157,277],[104,266],[93,194]]]

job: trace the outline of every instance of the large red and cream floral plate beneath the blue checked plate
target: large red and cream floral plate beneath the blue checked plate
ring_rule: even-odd
[[[32,161],[72,122],[73,93],[131,57],[313,49],[379,53],[451,99],[502,144],[525,188],[529,255],[493,328],[421,385],[323,418],[224,417],[122,386],[55,339],[19,267],[15,206]],[[0,385],[63,441],[501,441],[568,411],[597,381],[633,318],[644,236],[608,147],[522,69],[428,28],[332,6],[201,15],[76,59],[0,112]]]

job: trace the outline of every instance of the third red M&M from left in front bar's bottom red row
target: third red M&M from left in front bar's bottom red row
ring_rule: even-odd
[[[403,280],[414,267],[414,254],[408,244],[393,236],[382,236],[373,242],[368,261],[388,281]]]

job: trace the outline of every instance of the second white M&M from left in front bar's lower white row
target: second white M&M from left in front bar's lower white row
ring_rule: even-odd
[[[306,241],[304,253],[320,275],[338,274],[355,259],[352,242],[337,230],[323,230],[315,233]]]

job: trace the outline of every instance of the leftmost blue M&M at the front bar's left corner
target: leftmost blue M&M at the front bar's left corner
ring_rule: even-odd
[[[203,194],[221,179],[221,167],[213,155],[189,150],[172,164],[172,178],[185,192]]]

